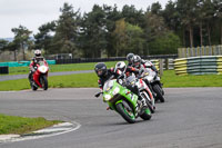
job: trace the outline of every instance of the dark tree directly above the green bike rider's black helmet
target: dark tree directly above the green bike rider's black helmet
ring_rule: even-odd
[[[84,14],[81,28],[81,47],[85,57],[98,58],[107,48],[105,13],[104,10],[94,4],[91,12]]]

